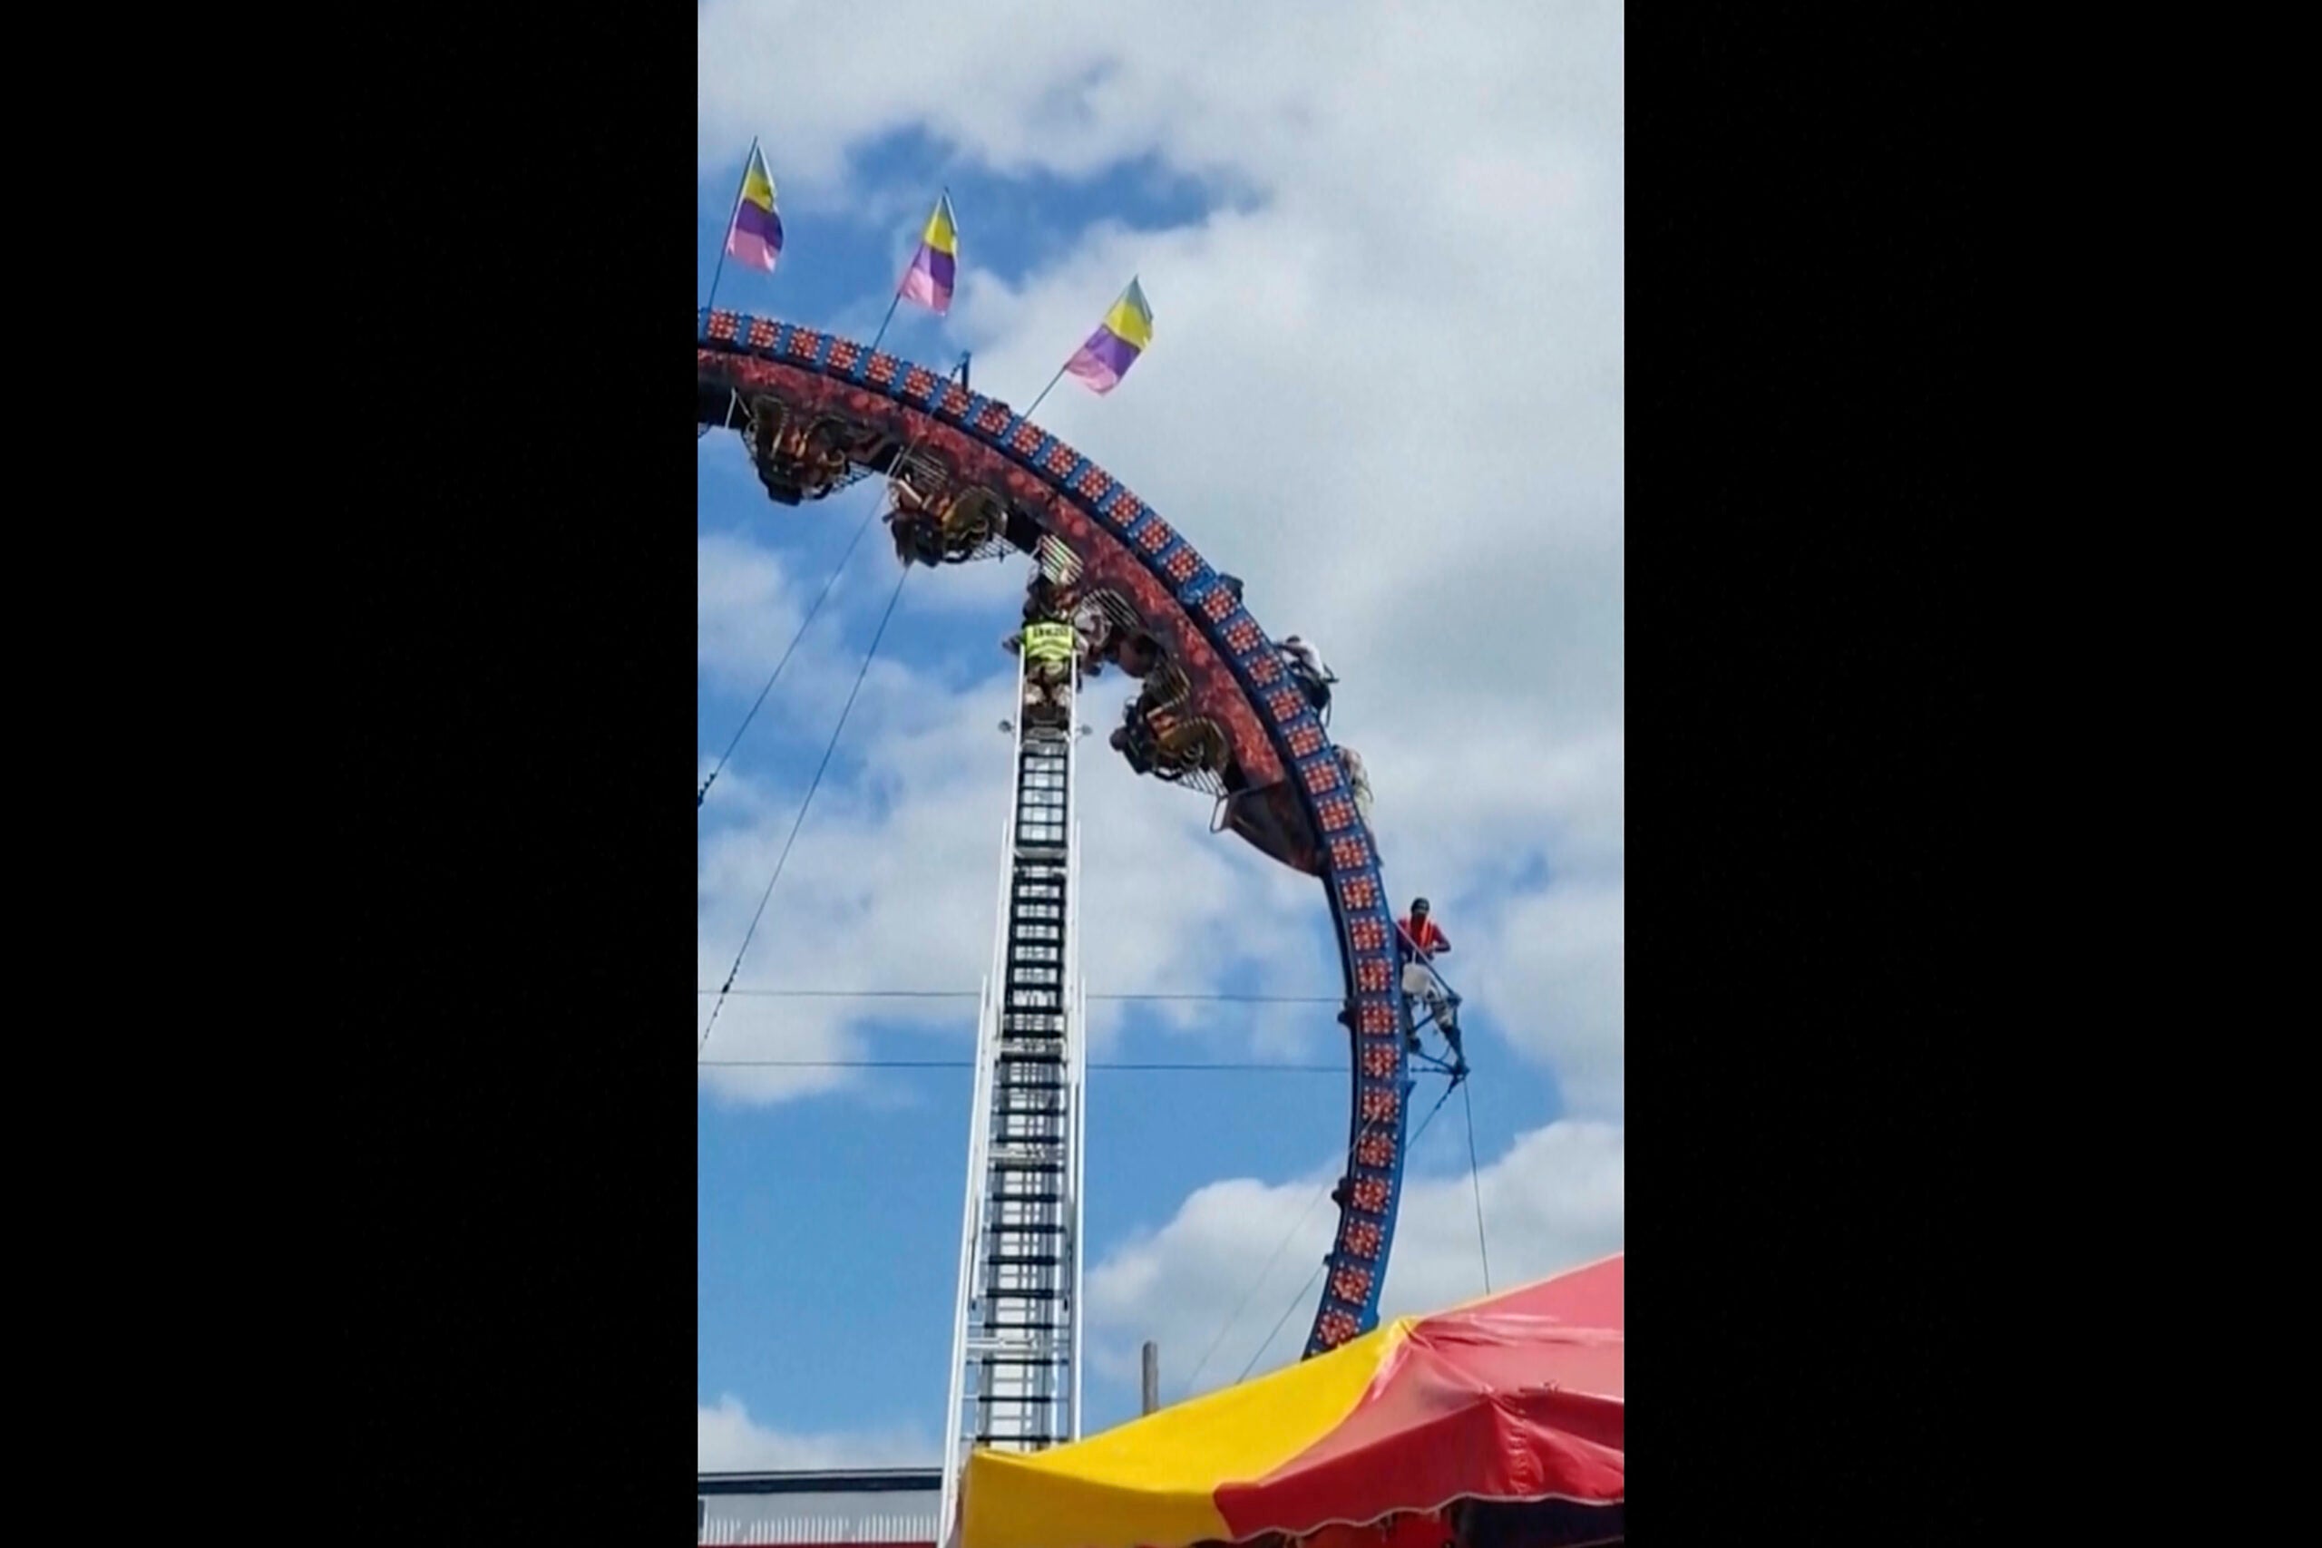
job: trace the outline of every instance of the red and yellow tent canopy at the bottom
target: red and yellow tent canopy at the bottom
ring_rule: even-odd
[[[959,1548],[1187,1548],[1454,1499],[1623,1502],[1621,1269],[1398,1318],[1075,1446],[978,1451]]]

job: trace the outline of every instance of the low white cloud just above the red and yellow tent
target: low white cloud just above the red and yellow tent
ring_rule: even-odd
[[[1484,1293],[1474,1184],[1465,1167],[1451,1172],[1442,1163],[1451,1149],[1463,1151],[1458,1123],[1447,1105],[1416,1146],[1423,1163],[1405,1179],[1379,1297],[1382,1318],[1437,1311]],[[1481,1170],[1493,1288],[1505,1290],[1621,1246],[1623,1153],[1618,1123],[1560,1121],[1519,1135]],[[1296,1360],[1317,1295],[1317,1286],[1303,1293],[1300,1286],[1331,1251],[1337,1223],[1331,1200],[1317,1202],[1317,1195],[1328,1191],[1337,1165],[1333,1160],[1284,1184],[1249,1177],[1207,1184],[1166,1225],[1117,1244],[1091,1265],[1094,1369],[1128,1381],[1138,1346],[1159,1339],[1161,1395],[1177,1402],[1191,1390],[1231,1383],[1261,1344],[1265,1355],[1256,1372]],[[1268,1260],[1272,1267],[1265,1267]],[[1284,1318],[1293,1297],[1296,1309]],[[1277,1318],[1279,1332],[1265,1344]]]

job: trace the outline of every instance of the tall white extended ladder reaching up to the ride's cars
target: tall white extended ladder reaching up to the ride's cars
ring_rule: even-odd
[[[1087,998],[1080,984],[1080,666],[1029,703],[1019,659],[998,924],[975,1037],[968,1195],[943,1446],[943,1522],[957,1532],[973,1446],[1080,1439],[1080,1263]],[[1054,703],[1054,699],[1063,703]]]

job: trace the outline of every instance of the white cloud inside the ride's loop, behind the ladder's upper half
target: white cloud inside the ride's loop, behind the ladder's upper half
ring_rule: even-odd
[[[722,543],[743,576],[771,566],[764,550]],[[776,592],[780,585],[771,580],[731,585],[704,596],[704,615],[717,613],[727,596]],[[704,624],[704,641],[713,638],[736,641],[741,631]],[[808,631],[752,738],[776,736],[771,722],[808,726],[810,743],[827,738],[859,664],[859,654],[845,659],[827,638],[820,624]],[[1008,803],[1008,738],[998,722],[1012,699],[1008,657],[991,650],[989,666],[973,687],[945,694],[906,666],[875,661],[841,740],[845,768],[834,761],[794,842],[806,780],[769,784],[736,754],[711,791],[701,840],[701,986],[724,982],[745,938],[738,986],[950,991],[982,982]],[[1084,719],[1124,692],[1098,682]],[[1326,914],[1312,884],[1240,840],[1210,836],[1205,798],[1138,780],[1096,736],[1082,745],[1094,752],[1082,761],[1089,982],[1103,993],[1177,993],[1240,970],[1263,975],[1277,993],[1331,993],[1337,965],[1319,945]],[[820,750],[806,759],[806,773],[817,759]],[[704,775],[708,764],[701,761]],[[789,856],[769,898],[785,842]],[[697,1037],[713,1005],[701,996]],[[1189,1035],[1217,1021],[1196,1007],[1154,1010]],[[859,1058],[864,1044],[852,1028],[871,1014],[966,1044],[975,1003],[734,996],[717,1012],[704,1058]],[[1249,1026],[1275,1051],[1300,1030],[1314,1035],[1312,1026],[1286,1021],[1259,1017]],[[1328,1012],[1321,1023],[1337,1030]],[[1096,1051],[1110,1047],[1115,1026],[1117,1017],[1098,1017]],[[704,1079],[720,1095],[755,1102],[859,1084],[843,1070],[729,1065],[704,1068]]]

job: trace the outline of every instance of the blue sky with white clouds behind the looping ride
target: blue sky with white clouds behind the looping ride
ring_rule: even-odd
[[[887,348],[1029,404],[1131,274],[1126,383],[1040,420],[1247,583],[1340,675],[1333,736],[1377,789],[1398,903],[1426,894],[1468,996],[1493,1283],[1623,1239],[1623,16],[1618,5],[885,5],[845,28],[699,5],[699,295],[748,144],[787,227],[717,302],[868,339],[938,188],[961,279]],[[708,775],[831,580],[875,483],[769,504],[699,448]],[[701,810],[715,989],[896,587],[873,527]],[[699,1058],[701,1467],[933,1462],[989,965],[1022,562],[915,573],[861,678]],[[1094,685],[1091,724],[1126,687]],[[1203,798],[1082,771],[1101,1061],[1342,1065],[1321,889]],[[697,996],[694,1037],[713,996]],[[1419,1112],[1435,1086],[1416,1093]],[[1089,1427],[1298,1355],[1347,1077],[1089,1077]],[[1454,1098],[1419,1140],[1386,1311],[1484,1286]],[[1284,1316],[1286,1314],[1286,1316]],[[1268,1332],[1279,1328],[1268,1341]],[[1196,1369],[1198,1367],[1198,1369]]]

